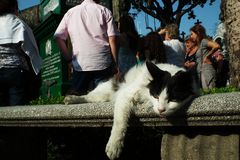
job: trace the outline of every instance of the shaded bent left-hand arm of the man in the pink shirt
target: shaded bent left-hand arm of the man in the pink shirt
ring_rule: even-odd
[[[68,51],[66,41],[59,37],[55,37],[55,40],[57,42],[57,45],[58,45],[64,59],[67,61],[67,63],[70,63],[72,61],[72,55]]]

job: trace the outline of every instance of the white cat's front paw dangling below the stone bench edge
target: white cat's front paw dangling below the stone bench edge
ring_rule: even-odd
[[[123,148],[123,140],[119,137],[111,136],[106,146],[106,154],[110,160],[119,158]]]

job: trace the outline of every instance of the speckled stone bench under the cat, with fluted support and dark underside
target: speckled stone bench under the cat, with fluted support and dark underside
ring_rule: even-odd
[[[136,106],[120,159],[239,160],[239,97],[240,92],[200,96],[182,112],[167,118],[159,117],[148,106]],[[0,153],[9,147],[8,156],[26,159],[23,153],[29,156],[30,152],[33,158],[28,159],[38,160],[34,156],[44,155],[49,140],[66,139],[63,144],[69,146],[73,158],[65,159],[105,160],[113,107],[111,102],[0,107]],[[13,141],[3,143],[1,138]]]

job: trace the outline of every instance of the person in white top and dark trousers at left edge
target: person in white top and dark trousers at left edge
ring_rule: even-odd
[[[17,16],[17,0],[0,0],[0,106],[27,104],[30,71],[42,65],[31,28]]]

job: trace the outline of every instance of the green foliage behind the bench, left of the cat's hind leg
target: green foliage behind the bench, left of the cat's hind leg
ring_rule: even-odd
[[[39,97],[36,100],[32,100],[30,105],[63,104],[63,99],[64,96]]]

